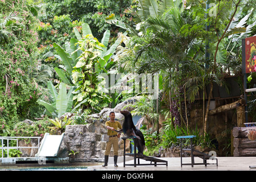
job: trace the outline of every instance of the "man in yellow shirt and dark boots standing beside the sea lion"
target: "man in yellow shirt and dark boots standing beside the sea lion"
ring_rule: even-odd
[[[109,141],[106,144],[106,151],[105,151],[105,164],[103,167],[108,166],[109,161],[109,153],[111,147],[113,145],[114,149],[114,166],[117,166],[117,157],[118,157],[118,138],[120,134],[117,133],[115,130],[122,129],[121,124],[118,121],[115,121],[115,113],[112,111],[109,113],[110,121],[105,123],[106,129],[108,129]]]

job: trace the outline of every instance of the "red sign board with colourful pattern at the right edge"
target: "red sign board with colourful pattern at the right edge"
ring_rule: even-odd
[[[256,72],[256,36],[242,39],[243,74]]]

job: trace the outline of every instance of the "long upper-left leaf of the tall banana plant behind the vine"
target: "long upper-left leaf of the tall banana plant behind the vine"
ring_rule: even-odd
[[[55,48],[58,55],[61,57],[61,60],[63,61],[63,64],[65,65],[68,73],[72,75],[72,69],[75,65],[71,56],[59,44],[53,43],[53,47]]]

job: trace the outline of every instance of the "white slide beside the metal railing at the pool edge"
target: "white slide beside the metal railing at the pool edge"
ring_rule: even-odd
[[[59,151],[60,143],[63,139],[63,135],[49,135],[46,133],[39,147],[38,157],[56,157]]]

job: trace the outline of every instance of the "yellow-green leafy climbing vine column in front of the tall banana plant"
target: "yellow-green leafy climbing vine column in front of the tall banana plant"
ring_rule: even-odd
[[[98,69],[101,68],[98,64],[100,59],[100,51],[103,51],[104,44],[98,42],[92,35],[82,36],[78,42],[81,55],[77,58],[75,67],[73,67],[72,78],[73,84],[77,86],[77,95],[74,100],[84,102],[86,113],[92,111],[100,111],[101,107],[108,106],[110,97],[101,91],[98,79]]]

